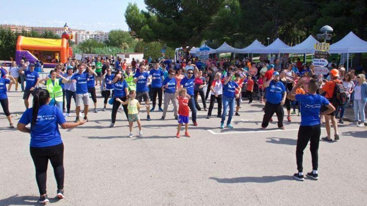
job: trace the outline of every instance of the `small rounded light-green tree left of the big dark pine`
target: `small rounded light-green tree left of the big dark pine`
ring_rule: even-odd
[[[134,48],[136,40],[131,37],[129,32],[122,30],[112,30],[108,34],[106,41],[108,46],[120,47],[121,49]]]

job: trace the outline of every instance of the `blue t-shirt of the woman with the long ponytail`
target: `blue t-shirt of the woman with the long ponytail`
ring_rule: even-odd
[[[32,108],[25,110],[19,123],[28,125],[32,122]],[[37,114],[36,124],[31,126],[30,146],[49,147],[61,144],[59,125],[66,122],[62,111],[55,106],[42,105]]]

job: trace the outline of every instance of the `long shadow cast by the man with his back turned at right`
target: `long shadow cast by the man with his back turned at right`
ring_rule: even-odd
[[[218,183],[272,183],[281,180],[294,180],[294,178],[289,175],[235,178],[209,177],[209,179],[215,180]]]

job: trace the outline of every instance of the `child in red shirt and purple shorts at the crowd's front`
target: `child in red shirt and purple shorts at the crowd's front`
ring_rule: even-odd
[[[177,95],[177,93],[176,93]],[[190,95],[187,94],[187,90],[182,88],[179,91],[178,99],[178,127],[176,137],[180,138],[180,129],[181,125],[185,123],[185,136],[190,137],[189,135],[189,98]]]

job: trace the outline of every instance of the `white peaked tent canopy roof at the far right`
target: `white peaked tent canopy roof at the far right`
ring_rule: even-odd
[[[339,53],[366,53],[367,41],[364,41],[356,36],[353,32],[349,32],[340,41],[330,45],[330,54]]]

